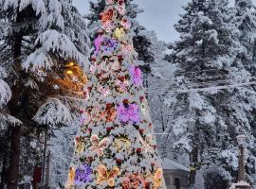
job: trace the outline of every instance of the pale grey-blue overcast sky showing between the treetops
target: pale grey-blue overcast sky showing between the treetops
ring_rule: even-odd
[[[88,12],[89,0],[73,0],[82,14]],[[166,42],[174,42],[178,34],[174,30],[174,23],[183,13],[182,6],[186,6],[188,0],[135,0],[139,8],[144,9],[138,15],[138,21],[147,29],[155,30],[158,38]],[[256,0],[253,0],[256,5]]]

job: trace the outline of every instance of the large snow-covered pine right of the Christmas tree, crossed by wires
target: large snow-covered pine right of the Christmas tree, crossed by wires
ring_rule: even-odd
[[[244,69],[236,66],[246,48],[239,41],[240,31],[232,23],[228,3],[192,0],[175,25],[180,33],[180,39],[174,43],[174,60],[179,65],[176,87],[188,92],[169,97],[176,117],[170,128],[170,140],[174,139],[177,153],[189,155],[191,185],[198,169],[214,171],[220,166],[216,181],[226,183],[222,187],[227,188],[231,176],[233,179],[236,176],[235,136],[247,133],[250,144],[255,141],[248,129],[245,101],[238,100],[243,95],[234,95],[240,87],[222,90],[215,87],[236,86],[250,79]],[[203,89],[189,91],[194,88]],[[250,93],[253,96],[254,92]],[[205,177],[206,183],[208,179]]]

